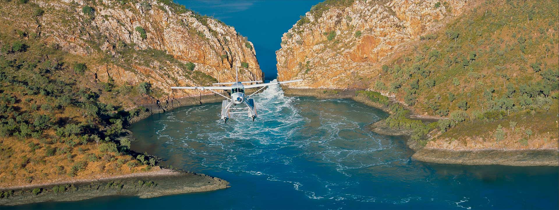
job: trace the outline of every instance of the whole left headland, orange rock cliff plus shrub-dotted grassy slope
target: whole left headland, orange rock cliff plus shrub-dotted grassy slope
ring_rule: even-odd
[[[124,128],[220,100],[170,87],[263,78],[247,38],[169,0],[0,1],[0,27],[0,188],[158,170]]]

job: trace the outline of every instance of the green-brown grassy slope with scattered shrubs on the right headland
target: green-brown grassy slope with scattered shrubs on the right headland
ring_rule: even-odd
[[[395,93],[419,113],[447,116],[447,109],[465,110],[467,122],[450,128],[442,139],[495,140],[500,124],[506,139],[525,145],[519,140],[527,135],[510,134],[513,121],[517,131],[532,130],[530,140],[553,139],[556,145],[557,3],[482,3],[390,61],[374,89]],[[433,82],[434,87],[429,85]],[[452,103],[449,93],[456,96]]]

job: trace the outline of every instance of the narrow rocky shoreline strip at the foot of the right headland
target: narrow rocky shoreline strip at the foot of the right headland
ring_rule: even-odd
[[[320,99],[348,98],[361,102],[367,106],[382,109],[389,112],[386,106],[369,101],[366,97],[356,96],[357,90],[338,89],[294,89],[285,88],[285,96],[307,96]],[[424,122],[437,121],[438,117],[429,117],[419,114],[411,114],[410,118]],[[414,150],[411,156],[415,160],[441,163],[441,164],[463,164],[463,165],[513,165],[513,166],[559,166],[558,150],[529,150],[529,149],[487,149],[487,150],[443,150],[425,149],[415,141],[409,141],[411,130],[394,129],[378,121],[371,123],[369,129],[381,135],[406,136],[406,145]]]

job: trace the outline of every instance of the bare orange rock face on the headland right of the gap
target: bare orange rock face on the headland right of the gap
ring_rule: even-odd
[[[435,5],[436,4],[436,5]],[[367,88],[383,61],[407,42],[460,15],[466,1],[355,1],[324,12],[311,9],[282,37],[279,80],[305,78],[293,88]]]

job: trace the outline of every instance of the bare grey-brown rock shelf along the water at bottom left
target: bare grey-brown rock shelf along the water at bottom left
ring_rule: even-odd
[[[205,192],[229,187],[229,182],[204,174],[161,169],[101,179],[72,180],[41,186],[0,188],[0,205],[79,201],[107,195],[153,198],[163,195]]]

